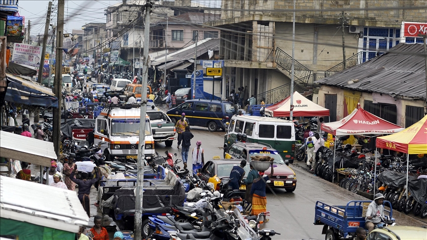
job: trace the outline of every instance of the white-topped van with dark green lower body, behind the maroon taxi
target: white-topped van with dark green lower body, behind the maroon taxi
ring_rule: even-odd
[[[294,162],[295,128],[288,120],[256,117],[233,116],[224,136],[224,154],[236,141],[237,134],[246,134],[247,142],[265,143],[276,149],[284,160]]]

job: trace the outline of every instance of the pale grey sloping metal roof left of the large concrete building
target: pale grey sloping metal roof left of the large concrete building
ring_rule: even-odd
[[[180,49],[175,52],[168,53],[168,63],[172,61],[184,61],[188,59],[194,59],[194,48],[196,44],[192,44],[188,47]],[[208,50],[219,50],[219,39],[204,39],[197,42],[197,57],[205,54]],[[156,57],[154,61],[151,62],[152,66],[158,66],[165,63],[165,55]],[[176,65],[175,65],[176,66]]]

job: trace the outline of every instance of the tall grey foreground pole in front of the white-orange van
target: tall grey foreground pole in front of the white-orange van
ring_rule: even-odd
[[[142,87],[141,87],[141,106],[139,116],[139,144],[138,144],[138,171],[135,189],[135,220],[134,220],[134,239],[141,240],[141,225],[142,225],[142,192],[144,186],[144,143],[145,143],[145,115],[147,112],[147,79],[148,79],[148,50],[150,44],[150,12],[151,2],[145,4],[145,26],[144,26],[144,65],[142,66]],[[141,60],[139,60],[141,61]]]

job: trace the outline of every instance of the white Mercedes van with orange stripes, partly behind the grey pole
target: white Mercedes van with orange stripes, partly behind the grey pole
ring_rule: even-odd
[[[95,122],[94,143],[108,142],[102,145],[106,160],[127,162],[137,159],[139,144],[140,105],[110,104],[104,108]],[[145,118],[144,159],[154,157],[154,139],[151,132],[150,118]]]

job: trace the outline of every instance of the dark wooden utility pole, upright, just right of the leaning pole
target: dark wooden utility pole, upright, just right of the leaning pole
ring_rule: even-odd
[[[59,141],[61,139],[61,100],[62,100],[62,39],[64,33],[64,3],[65,0],[58,0],[58,20],[56,27],[56,64],[55,80],[53,82],[53,91],[58,98],[58,108],[53,109],[53,147],[59,158]]]

